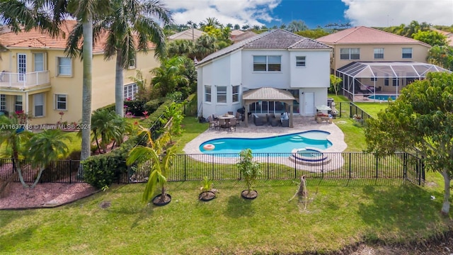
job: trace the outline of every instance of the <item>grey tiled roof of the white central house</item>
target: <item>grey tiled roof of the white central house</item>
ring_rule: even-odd
[[[303,36],[288,32],[287,30],[276,29],[255,35],[251,38],[247,38],[246,40],[241,40],[234,45],[230,45],[229,47],[214,52],[198,62],[197,66],[239,49],[328,50],[331,49],[331,47],[321,42],[316,42],[316,40],[304,38]]]

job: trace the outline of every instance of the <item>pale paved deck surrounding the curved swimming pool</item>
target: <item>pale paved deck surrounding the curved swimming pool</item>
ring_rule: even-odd
[[[294,128],[282,128],[282,127],[272,127],[270,125],[261,125],[256,126],[253,123],[249,123],[248,128],[244,127],[244,124],[241,122],[241,125],[236,128],[236,131],[226,131],[226,130],[214,130],[208,129],[202,134],[198,135],[192,141],[188,142],[184,147],[184,152],[186,154],[203,154],[200,151],[200,145],[207,140],[212,140],[216,138],[225,138],[225,137],[246,137],[246,138],[261,138],[261,137],[272,137],[275,135],[287,135],[297,132],[309,131],[309,130],[321,130],[329,132],[330,135],[327,136],[327,139],[332,142],[332,146],[328,149],[322,150],[322,152],[343,152],[348,145],[346,145],[344,140],[343,132],[338,128],[335,124],[335,120],[333,124],[329,124],[326,122],[323,123],[316,123],[314,117],[302,117],[302,116],[294,116]],[[341,157],[340,154],[332,154],[331,157]],[[234,164],[236,163],[236,159],[229,159],[225,157],[209,157],[209,159],[203,160],[200,157],[194,155],[193,157],[196,160],[205,162],[209,160],[209,162],[217,163],[224,163],[224,164]],[[202,157],[205,158],[205,157]],[[217,159],[216,159],[217,158]],[[257,157],[258,158],[258,157]],[[290,161],[288,158],[287,162],[282,162],[282,159],[275,157],[276,163],[283,163],[289,166],[294,166],[294,162]],[[263,159],[264,160],[264,159]],[[268,159],[266,159],[268,160]],[[258,158],[258,161],[262,161]],[[323,166],[305,166],[303,164],[297,164],[297,168],[299,169],[306,169],[309,171],[329,171],[333,169],[337,169],[343,165],[342,159],[335,159],[331,160],[331,163],[325,164]]]

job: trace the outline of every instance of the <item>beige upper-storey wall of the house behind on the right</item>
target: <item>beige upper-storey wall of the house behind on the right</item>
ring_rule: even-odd
[[[333,61],[331,62],[331,69],[335,73],[336,69],[344,67],[351,62],[387,62],[387,61],[412,61],[412,62],[426,62],[428,57],[428,50],[430,47],[422,44],[342,44],[334,45],[324,42],[326,45],[333,47]],[[403,59],[403,47],[412,48],[412,58]],[[340,60],[341,48],[360,48],[360,60]],[[374,59],[374,48],[384,48],[384,59]]]

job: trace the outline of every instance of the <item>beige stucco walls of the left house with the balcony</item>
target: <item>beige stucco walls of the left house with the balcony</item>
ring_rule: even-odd
[[[0,90],[0,94],[7,94],[6,107],[8,111],[14,111],[15,96],[23,96],[23,108],[25,110],[25,96],[28,96],[28,113],[33,115],[33,94],[45,94],[45,116],[42,118],[33,118],[33,124],[57,123],[60,119],[59,110],[55,109],[55,94],[67,95],[67,111],[64,111],[63,121],[79,122],[81,120],[82,110],[82,83],[83,83],[83,65],[79,58],[72,59],[72,75],[70,77],[57,76],[57,57],[65,57],[62,50],[29,50],[29,49],[10,49],[6,52],[0,52],[0,72],[17,72],[18,53],[27,55],[27,71],[33,72],[33,52],[45,53],[44,69],[50,72],[50,86],[47,89],[24,91],[6,91],[6,88]],[[124,72],[123,84],[131,84],[129,77],[135,77],[136,71],[143,73],[144,79],[151,80],[149,71],[159,66],[159,61],[154,58],[154,50],[149,50],[147,55],[144,52],[137,53],[136,68],[128,69]],[[93,81],[92,81],[92,110],[96,110],[110,103],[115,103],[115,58],[104,60],[102,54],[93,55]]]

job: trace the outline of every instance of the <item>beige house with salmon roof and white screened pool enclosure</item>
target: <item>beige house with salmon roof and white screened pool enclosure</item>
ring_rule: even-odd
[[[343,79],[343,94],[353,101],[357,94],[395,98],[428,72],[448,72],[427,64],[430,45],[374,28],[348,28],[316,40],[333,47],[331,74]]]

